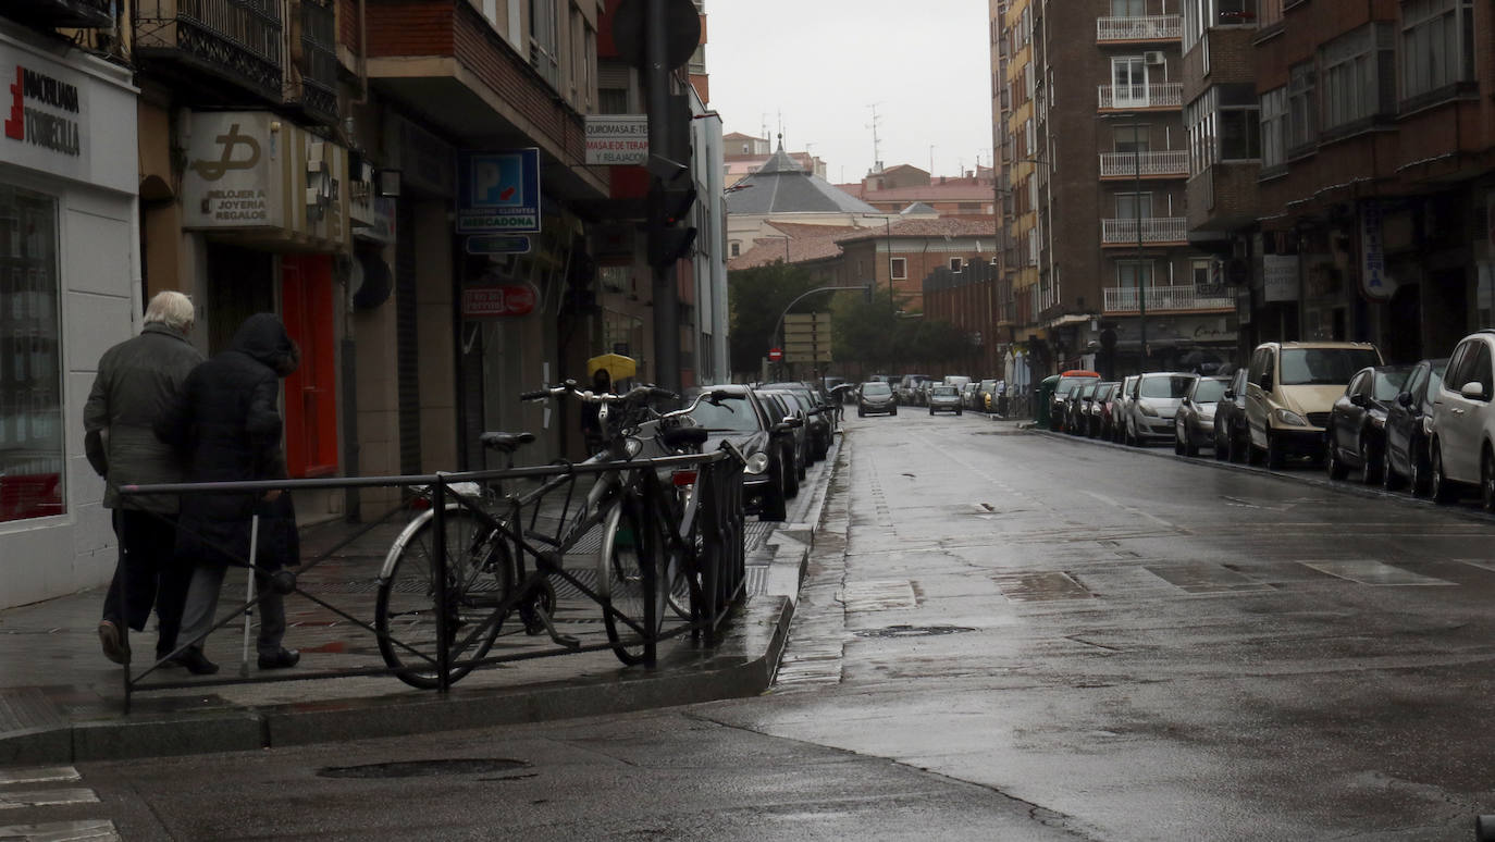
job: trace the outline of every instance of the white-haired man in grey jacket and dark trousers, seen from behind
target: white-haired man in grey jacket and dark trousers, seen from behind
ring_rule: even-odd
[[[130,663],[130,630],[145,631],[155,609],[157,660],[176,649],[191,565],[176,558],[178,500],[172,495],[121,497],[123,485],[179,483],[182,462],[155,438],[154,425],[176,402],[187,375],[202,362],[188,342],[191,299],[157,293],[145,308],[141,335],[99,359],[84,405],[84,453],[105,479],[103,504],[114,514],[120,561],[103,600],[99,643],[115,664]]]

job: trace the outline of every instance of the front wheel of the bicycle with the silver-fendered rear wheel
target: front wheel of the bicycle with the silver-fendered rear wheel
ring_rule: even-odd
[[[647,655],[643,636],[658,637],[664,625],[664,588],[650,553],[659,537],[649,534],[641,504],[625,497],[613,504],[602,522],[602,550],[598,553],[597,591],[602,598],[602,621],[613,654],[626,666],[641,664]],[[653,601],[653,624],[646,622]],[[605,610],[605,609],[611,610]]]

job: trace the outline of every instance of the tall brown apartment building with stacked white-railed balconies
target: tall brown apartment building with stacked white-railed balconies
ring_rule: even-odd
[[[1177,7],[1009,0],[1002,39],[1002,269],[1021,350],[1044,372],[1218,365],[1235,299],[1189,242]]]

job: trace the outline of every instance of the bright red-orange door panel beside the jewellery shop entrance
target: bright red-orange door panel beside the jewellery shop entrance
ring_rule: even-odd
[[[292,479],[338,471],[336,354],[332,259],[281,260],[281,313],[300,345],[300,366],[286,378],[286,467]]]

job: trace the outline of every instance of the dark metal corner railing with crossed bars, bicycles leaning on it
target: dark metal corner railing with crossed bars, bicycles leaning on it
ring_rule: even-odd
[[[577,483],[583,479],[595,479],[599,474],[610,471],[638,471],[641,482],[647,488],[653,489],[646,494],[644,510],[659,511],[658,503],[664,500],[661,495],[670,494],[673,489],[668,488],[670,474],[673,471],[691,471],[694,477],[694,495],[698,503],[698,511],[695,523],[700,528],[700,540],[694,544],[695,549],[695,565],[688,567],[688,576],[694,577],[695,583],[691,585],[689,594],[677,594],[677,601],[688,600],[689,609],[688,615],[677,615],[668,612],[662,606],[656,606],[652,600],[644,600],[647,607],[647,619],[643,622],[628,622],[626,627],[637,631],[637,636],[626,637],[622,640],[616,639],[599,639],[597,622],[597,609],[601,607],[604,616],[608,612],[616,610],[610,607],[607,598],[601,595],[601,585],[597,579],[592,579],[594,573],[598,573],[598,562],[595,555],[583,555],[592,552],[592,541],[583,537],[582,543],[586,549],[577,549],[580,556],[579,562],[567,564],[568,558],[561,550],[537,550],[535,547],[565,547],[562,537],[568,529],[574,529],[577,517],[583,514],[582,507],[585,505],[585,492],[579,494]],[[664,474],[665,479],[661,479]],[[493,510],[480,505],[474,501],[472,488],[489,486],[490,483],[517,483],[523,480],[538,482],[538,491],[529,492],[520,497],[504,497],[499,500]],[[658,483],[658,485],[650,485]],[[241,483],[173,483],[173,485],[150,485],[150,486],[121,486],[120,494],[124,497],[132,495],[223,495],[223,494],[238,494],[238,495],[253,495],[253,498],[262,497],[269,491],[312,491],[312,489],[374,489],[374,488],[398,488],[407,492],[416,492],[405,495],[410,503],[402,503],[399,505],[390,507],[381,516],[366,520],[356,528],[351,528],[351,534],[338,540],[329,549],[317,553],[314,558],[302,559],[298,571],[292,573],[289,570],[272,571],[262,564],[259,564],[259,556],[256,556],[256,564],[248,564],[242,555],[242,550],[233,550],[230,547],[215,546],[208,537],[196,535],[209,550],[215,550],[220,555],[230,558],[232,565],[241,570],[253,570],[256,577],[260,574],[271,576],[274,582],[274,589],[281,592],[284,597],[299,597],[311,604],[320,607],[335,618],[335,622],[344,624],[345,628],[356,628],[359,634],[366,634],[369,642],[378,645],[381,652],[401,652],[401,658],[416,655],[423,658],[426,669],[434,676],[437,676],[438,686],[446,691],[450,682],[451,670],[460,670],[460,674],[466,674],[472,669],[496,667],[499,664],[571,655],[582,652],[601,652],[601,651],[617,651],[619,646],[643,646],[644,661],[653,663],[655,660],[655,645],[661,640],[679,637],[683,634],[691,634],[694,639],[704,642],[706,646],[713,646],[719,639],[719,631],[737,601],[746,594],[746,525],[743,516],[743,458],[742,453],[731,447],[724,447],[704,455],[679,455],[679,456],[661,456],[653,459],[631,459],[626,462],[586,462],[586,464],[552,464],[534,468],[508,468],[495,471],[466,471],[466,473],[450,473],[450,474],[428,474],[428,476],[398,476],[398,477],[357,477],[357,479],[326,479],[326,480],[259,480],[259,482],[241,482]],[[534,500],[531,508],[520,508],[520,500]],[[411,503],[420,503],[420,505],[413,505]],[[450,511],[449,511],[450,510]],[[460,511],[462,514],[456,514]],[[432,622],[435,624],[435,634],[431,640],[417,642],[416,637],[407,637],[405,634],[396,634],[396,628],[407,628],[407,625],[381,624],[380,618],[375,616],[378,610],[378,601],[371,598],[368,588],[356,588],[350,592],[344,604],[336,604],[327,598],[329,591],[324,589],[324,579],[318,573],[318,567],[335,559],[327,567],[335,570],[341,576],[353,576],[357,579],[356,583],[377,582],[381,586],[384,582],[378,579],[383,576],[387,561],[384,559],[383,550],[390,549],[390,541],[387,538],[392,528],[410,526],[422,516],[431,517],[429,531],[431,535],[431,550],[429,564],[434,570],[429,579],[435,588],[435,592],[428,592],[428,603],[431,606],[423,612],[428,618],[422,624],[407,624],[411,630],[410,634],[417,634],[417,627],[420,633],[429,634],[432,631]],[[457,633],[451,628],[446,628],[444,624],[451,621],[447,618],[447,610],[437,610],[435,606],[447,604],[447,588],[449,580],[449,562],[451,555],[447,547],[447,526],[444,520],[451,517],[466,517],[471,522],[474,517],[481,523],[489,523],[492,528],[499,529],[493,532],[495,535],[502,535],[499,540],[505,547],[517,552],[526,561],[531,562],[528,570],[529,579],[522,583],[510,582],[507,586],[498,582],[490,583],[489,591],[493,589],[508,589],[517,598],[525,592],[526,586],[534,585],[537,579],[555,583],[555,591],[552,592],[552,615],[555,616],[553,624],[558,628],[567,628],[571,634],[555,633],[550,637],[540,634],[537,622],[532,616],[525,616],[526,609],[532,613],[534,609],[528,603],[516,601],[513,607],[508,598],[502,603],[498,595],[489,597],[493,600],[492,610],[511,612],[513,619],[508,621],[510,627],[517,627],[513,637],[504,637],[505,645],[489,649],[483,646],[480,649],[465,649],[466,655],[453,654],[453,645],[457,640]],[[604,519],[605,520],[605,519]],[[643,520],[649,523],[650,520]],[[181,528],[181,526],[179,526]],[[586,535],[599,534],[605,529],[605,522],[592,526]],[[404,531],[401,532],[405,534]],[[694,540],[694,538],[692,538]],[[372,549],[380,552],[369,552],[368,544],[360,544],[360,541],[372,541]],[[532,543],[537,541],[537,543]],[[644,546],[650,546],[649,538],[644,538]],[[597,540],[601,544],[599,540]],[[356,552],[344,552],[348,547],[357,544]],[[495,546],[495,544],[484,544]],[[582,544],[574,544],[582,546]],[[599,546],[595,547],[599,553]],[[374,570],[348,570],[350,558],[377,558],[378,568]],[[662,556],[661,556],[662,558]],[[393,574],[390,574],[393,579]],[[501,577],[502,579],[502,577]],[[395,582],[398,585],[398,582]],[[395,588],[393,591],[398,591]],[[392,591],[392,592],[393,592]],[[333,589],[332,592],[342,592]],[[410,595],[405,597],[411,598]],[[414,595],[416,600],[420,598],[419,594]],[[256,606],[265,600],[265,594],[259,597],[251,597],[245,603],[235,607],[232,613],[223,615],[220,612],[220,619],[209,630],[209,636],[214,631],[226,628],[229,625],[245,622],[253,613]],[[591,609],[591,610],[589,610]],[[674,616],[676,622],[665,622],[665,618],[658,618],[656,612],[665,612],[665,616]],[[290,613],[290,612],[287,612]],[[564,615],[564,616],[562,616]],[[547,615],[549,616],[549,615]],[[655,622],[658,619],[658,622]],[[490,619],[489,622],[496,624],[499,619]],[[568,625],[570,624],[570,625]],[[546,624],[547,628],[550,622]],[[619,624],[622,625],[622,624]],[[384,631],[380,627],[386,627]],[[658,628],[656,636],[650,636],[647,628]],[[468,631],[468,630],[463,630]],[[247,631],[245,631],[247,633]],[[471,634],[483,634],[483,630],[472,631]],[[496,631],[489,633],[489,637],[496,637]],[[611,637],[611,633],[608,633]],[[410,673],[411,667],[395,666],[389,663],[389,655],[384,661],[378,661],[377,655],[372,655],[374,646],[348,645],[350,652],[357,652],[359,658],[353,658],[357,666],[350,669],[336,670],[305,670],[295,673],[259,673],[250,676],[247,667],[241,669],[238,676],[196,676],[187,680],[157,680],[161,676],[157,674],[167,661],[176,655],[185,652],[185,649],[193,645],[190,640],[179,640],[178,648],[155,661],[154,664],[145,667],[144,670],[133,670],[130,664],[124,666],[124,709],[130,710],[130,700],[135,692],[145,691],[164,691],[164,689],[182,689],[182,688],[200,688],[212,685],[242,685],[242,683],[269,683],[269,682],[286,682],[286,680],[315,680],[315,679],[336,679],[336,677],[357,677],[357,676],[401,676],[402,673]],[[417,646],[426,648],[426,651],[417,651]],[[490,654],[496,652],[496,654]],[[377,664],[377,666],[374,666]],[[164,674],[164,673],[163,673]],[[147,680],[151,679],[151,680]]]

